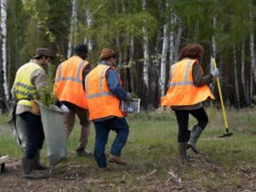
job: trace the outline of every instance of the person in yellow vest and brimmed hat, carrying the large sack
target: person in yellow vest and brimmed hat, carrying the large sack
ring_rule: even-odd
[[[43,178],[34,169],[47,167],[39,163],[40,150],[44,143],[43,125],[40,115],[32,110],[31,99],[40,99],[41,91],[47,85],[45,69],[50,64],[53,54],[48,48],[37,48],[34,59],[20,67],[16,72],[16,80],[12,88],[13,98],[17,102],[16,115],[25,122],[26,150],[22,159],[23,176],[25,178]]]

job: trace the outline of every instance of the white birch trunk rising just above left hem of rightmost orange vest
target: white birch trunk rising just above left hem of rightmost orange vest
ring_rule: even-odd
[[[160,70],[160,93],[161,97],[165,95],[165,77],[166,77],[166,57],[168,51],[168,36],[167,36],[168,24],[164,26],[164,37],[163,37],[163,48],[162,48],[162,58],[161,58],[161,70]]]

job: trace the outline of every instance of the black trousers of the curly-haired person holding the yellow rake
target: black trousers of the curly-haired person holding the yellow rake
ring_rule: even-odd
[[[185,143],[187,140],[189,113],[197,119],[197,126],[201,127],[202,129],[205,129],[208,124],[208,115],[204,107],[191,111],[175,110],[175,112],[176,121],[178,124],[178,143]]]

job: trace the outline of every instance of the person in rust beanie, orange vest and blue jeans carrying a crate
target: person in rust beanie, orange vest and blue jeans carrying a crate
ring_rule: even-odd
[[[110,131],[116,133],[108,161],[118,165],[126,165],[121,157],[125,145],[129,125],[121,109],[121,101],[132,101],[132,95],[123,90],[122,81],[113,68],[116,53],[109,48],[101,51],[101,61],[86,76],[85,90],[87,94],[90,120],[95,127],[94,156],[100,168],[107,168],[105,145]]]

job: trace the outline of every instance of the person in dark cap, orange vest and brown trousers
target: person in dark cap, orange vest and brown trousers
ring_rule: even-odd
[[[80,144],[76,149],[78,156],[91,155],[90,152],[85,151],[90,134],[89,112],[84,89],[85,76],[91,70],[90,63],[85,60],[87,56],[87,46],[78,44],[74,48],[74,55],[59,65],[55,78],[58,99],[69,108],[69,112],[64,114],[67,137],[73,130],[75,115],[77,114],[80,119]]]

